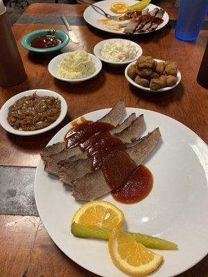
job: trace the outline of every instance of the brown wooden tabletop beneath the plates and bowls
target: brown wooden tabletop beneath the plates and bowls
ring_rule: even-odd
[[[177,18],[173,1],[159,1],[171,17],[172,26]],[[51,77],[47,65],[53,55],[41,56],[28,53],[21,47],[21,37],[39,28],[65,30],[58,15],[67,15],[74,22],[80,44],[70,45],[70,50],[83,48],[93,52],[94,45],[102,39],[114,37],[83,22],[85,6],[66,4],[32,4],[23,17],[13,26],[15,38],[23,59],[28,78],[15,87],[1,87],[0,107],[8,98],[28,89],[51,89],[67,100],[68,114],[64,121],[51,132],[34,137],[20,137],[7,133],[1,127],[0,165],[37,165],[40,149],[58,130],[89,111],[112,107],[123,98],[126,107],[139,107],[166,114],[187,125],[203,140],[208,141],[207,90],[196,82],[196,76],[207,44],[208,30],[201,30],[196,42],[187,43],[175,39],[174,29],[169,26],[149,35],[132,37],[141,45],[144,55],[162,60],[176,60],[182,73],[182,82],[168,93],[146,93],[132,87],[123,76],[123,68],[103,65],[97,78],[81,84],[68,84]],[[29,24],[26,24],[29,22]],[[194,251],[194,249],[193,249]],[[0,215],[0,276],[95,276],[72,262],[55,246],[39,217]],[[175,265],[177,266],[177,265]],[[207,277],[208,259],[177,277]],[[162,276],[164,277],[164,276]]]

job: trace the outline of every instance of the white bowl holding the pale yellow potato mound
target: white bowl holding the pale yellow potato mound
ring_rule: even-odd
[[[89,55],[92,57],[92,60],[95,64],[95,71],[92,75],[89,75],[88,77],[85,77],[85,78],[81,78],[81,79],[67,79],[67,78],[61,78],[59,75],[58,75],[58,64],[60,64],[60,62],[63,60],[64,58],[64,55],[66,55],[67,53],[63,53],[63,54],[60,54],[56,57],[53,57],[53,60],[51,60],[51,62],[49,62],[49,66],[48,66],[48,69],[49,69],[49,73],[51,73],[51,75],[58,79],[58,80],[62,80],[62,81],[66,81],[66,82],[73,82],[73,83],[78,83],[78,82],[84,82],[86,80],[89,80],[91,78],[94,78],[96,75],[98,75],[98,73],[101,71],[102,69],[102,62],[98,59],[98,57],[92,55],[89,53]]]

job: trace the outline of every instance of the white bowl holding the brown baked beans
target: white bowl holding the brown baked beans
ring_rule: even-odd
[[[43,128],[43,129],[38,129],[35,131],[21,131],[18,129],[14,129],[11,125],[9,125],[7,121],[8,117],[8,108],[13,105],[18,99],[22,98],[23,96],[30,96],[34,92],[37,92],[38,96],[53,96],[53,97],[58,97],[61,101],[61,112],[60,116],[55,120],[51,125]],[[57,126],[59,123],[62,122],[64,117],[67,114],[67,102],[65,99],[60,96],[60,94],[56,93],[55,91],[49,91],[48,89],[31,89],[30,91],[24,91],[21,93],[16,94],[9,100],[7,100],[3,106],[1,107],[0,110],[0,124],[3,127],[3,129],[6,129],[6,131],[12,133],[12,134],[17,134],[18,136],[33,136],[35,134],[41,134],[44,132],[49,131],[50,129],[53,129],[55,126]]]

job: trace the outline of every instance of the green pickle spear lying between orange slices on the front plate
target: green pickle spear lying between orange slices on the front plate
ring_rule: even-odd
[[[94,226],[85,226],[82,224],[78,224],[73,222],[71,224],[71,233],[78,238],[97,238],[100,240],[108,240],[111,231],[100,229]],[[140,242],[145,247],[152,249],[160,249],[160,250],[173,250],[177,249],[177,244],[173,242],[168,242],[168,240],[162,240],[161,238],[155,238],[150,235],[143,235],[140,233],[131,233],[125,232],[129,235],[132,235],[137,242]]]

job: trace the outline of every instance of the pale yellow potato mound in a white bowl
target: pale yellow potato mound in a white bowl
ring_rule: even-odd
[[[92,57],[83,50],[77,50],[64,55],[58,64],[58,75],[67,79],[81,79],[92,75],[95,65]]]

